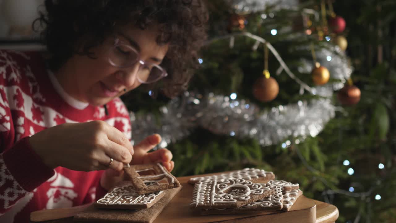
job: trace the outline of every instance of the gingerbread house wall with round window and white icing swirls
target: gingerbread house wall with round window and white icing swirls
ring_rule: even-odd
[[[274,194],[267,186],[245,179],[198,182],[194,186],[191,208],[237,208]]]

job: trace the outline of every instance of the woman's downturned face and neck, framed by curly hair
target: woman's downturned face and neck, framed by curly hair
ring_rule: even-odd
[[[169,45],[156,43],[159,32],[155,26],[145,30],[131,27],[120,30],[92,50],[95,59],[75,55],[61,67],[57,77],[68,94],[82,102],[101,106],[141,85],[137,76],[139,72],[147,72],[147,70],[139,69],[139,62],[126,68],[110,64],[109,52],[114,46],[115,38],[135,48],[139,52],[139,60],[158,65],[162,62]]]

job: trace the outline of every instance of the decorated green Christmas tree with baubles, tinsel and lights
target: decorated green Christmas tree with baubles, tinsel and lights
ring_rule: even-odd
[[[396,3],[207,7],[209,38],[189,89],[124,96],[133,140],[160,133],[176,176],[262,168],[335,204],[339,222],[392,222]]]

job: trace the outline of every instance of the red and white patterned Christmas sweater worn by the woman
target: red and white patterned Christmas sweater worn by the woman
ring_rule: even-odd
[[[51,78],[52,79],[51,79]],[[51,169],[32,150],[29,136],[62,123],[103,120],[131,138],[119,98],[104,108],[72,99],[46,70],[38,53],[0,50],[0,222],[29,222],[32,211],[93,202],[106,191],[103,171]],[[54,81],[55,80],[55,81]]]

